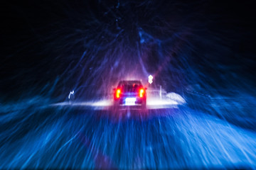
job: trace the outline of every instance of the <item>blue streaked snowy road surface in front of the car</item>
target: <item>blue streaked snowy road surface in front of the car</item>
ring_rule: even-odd
[[[186,106],[144,117],[33,104],[2,108],[1,120],[12,119],[1,122],[1,169],[255,167],[255,132]]]

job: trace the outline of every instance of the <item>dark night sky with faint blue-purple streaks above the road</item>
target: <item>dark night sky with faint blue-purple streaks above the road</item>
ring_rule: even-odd
[[[1,99],[56,97],[82,84],[104,89],[102,77],[92,75],[107,73],[109,86],[122,77],[124,64],[129,68],[139,58],[147,72],[159,72],[155,79],[166,91],[181,91],[189,84],[254,90],[254,1],[120,0],[118,8],[117,4],[2,3]]]

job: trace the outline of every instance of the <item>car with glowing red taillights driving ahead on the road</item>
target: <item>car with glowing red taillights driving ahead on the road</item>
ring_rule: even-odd
[[[138,80],[119,81],[114,88],[114,106],[139,106],[146,108],[146,88]]]

